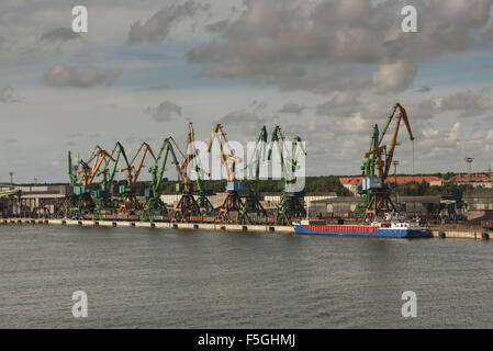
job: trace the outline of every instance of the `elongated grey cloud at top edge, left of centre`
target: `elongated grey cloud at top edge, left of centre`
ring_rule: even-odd
[[[182,4],[172,4],[156,12],[144,24],[141,21],[132,24],[127,43],[141,44],[145,42],[163,42],[168,36],[173,24],[186,18],[195,15],[199,11],[209,10],[210,5],[195,0],[188,0]]]

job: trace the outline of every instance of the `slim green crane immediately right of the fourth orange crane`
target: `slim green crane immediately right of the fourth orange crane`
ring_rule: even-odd
[[[255,215],[255,223],[267,223],[267,211],[261,205],[258,194],[260,165],[266,160],[267,139],[267,128],[266,126],[262,126],[257,138],[250,162],[245,167],[245,170],[249,171],[249,174],[253,176],[251,178],[254,179],[254,181],[249,184],[249,191],[245,196],[242,208],[239,208],[236,215],[237,224],[253,224],[253,219],[249,214]]]

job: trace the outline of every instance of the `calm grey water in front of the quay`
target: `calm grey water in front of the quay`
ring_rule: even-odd
[[[492,287],[484,241],[0,226],[3,328],[493,328]]]

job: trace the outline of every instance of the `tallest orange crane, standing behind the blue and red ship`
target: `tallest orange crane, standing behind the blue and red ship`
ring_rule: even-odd
[[[388,147],[386,145],[382,145],[382,141],[390,124],[394,120],[396,121],[395,129],[392,135],[390,146]],[[377,146],[369,152],[363,154],[363,157],[366,159],[376,156],[377,177],[363,179],[362,190],[369,191],[369,201],[362,218],[362,223],[371,223],[376,218],[382,216],[384,213],[397,211],[395,204],[390,197],[391,184],[386,183],[386,178],[392,166],[395,147],[397,146],[399,131],[403,121],[410,135],[410,139],[413,141],[414,136],[413,132],[411,131],[410,121],[407,118],[407,112],[400,103],[396,103],[392,110],[391,115],[389,116],[383,133],[380,135]]]

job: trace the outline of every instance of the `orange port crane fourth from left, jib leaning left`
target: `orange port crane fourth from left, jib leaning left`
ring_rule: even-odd
[[[211,140],[209,141],[209,152],[212,150],[212,145],[214,140],[217,141],[221,155],[221,163],[226,174],[227,185],[226,185],[226,199],[220,207],[219,214],[215,218],[216,223],[234,223],[231,217],[232,212],[238,212],[243,207],[242,199],[239,193],[245,189],[248,189],[245,182],[236,180],[236,162],[242,162],[239,157],[235,156],[234,150],[231,148],[227,141],[226,134],[224,133],[223,126],[217,124],[212,131]],[[224,147],[227,147],[228,154],[225,154]]]

